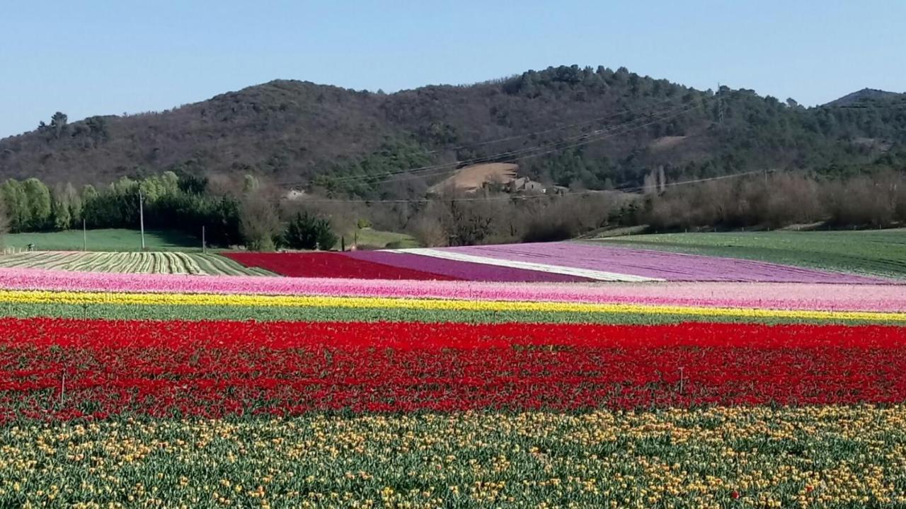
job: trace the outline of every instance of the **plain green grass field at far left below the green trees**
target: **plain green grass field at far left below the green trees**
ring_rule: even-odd
[[[88,251],[140,251],[139,230],[88,230]],[[4,247],[25,249],[29,244],[38,251],[82,251],[82,230],[63,232],[3,235]],[[149,251],[201,251],[201,241],[176,231],[145,231],[145,246]]]

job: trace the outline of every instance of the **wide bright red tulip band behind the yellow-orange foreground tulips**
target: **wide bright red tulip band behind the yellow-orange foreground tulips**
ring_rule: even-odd
[[[906,328],[0,320],[0,420],[906,401]]]

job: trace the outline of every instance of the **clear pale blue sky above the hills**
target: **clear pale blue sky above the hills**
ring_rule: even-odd
[[[0,138],[276,78],[390,92],[572,63],[812,105],[906,91],[903,20],[904,0],[9,1]]]

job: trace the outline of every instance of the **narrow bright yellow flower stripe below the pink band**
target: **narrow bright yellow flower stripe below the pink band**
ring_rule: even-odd
[[[464,301],[382,297],[329,297],[312,295],[247,295],[221,293],[101,293],[0,290],[0,303],[131,304],[190,306],[339,307],[475,312],[601,312],[673,314],[742,318],[865,320],[906,322],[906,312],[843,312],[713,308],[651,304],[535,303],[526,301]]]

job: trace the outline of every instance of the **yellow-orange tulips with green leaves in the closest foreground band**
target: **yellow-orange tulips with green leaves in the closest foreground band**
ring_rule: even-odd
[[[904,430],[901,406],[43,423],[5,437],[0,502],[902,507]]]

